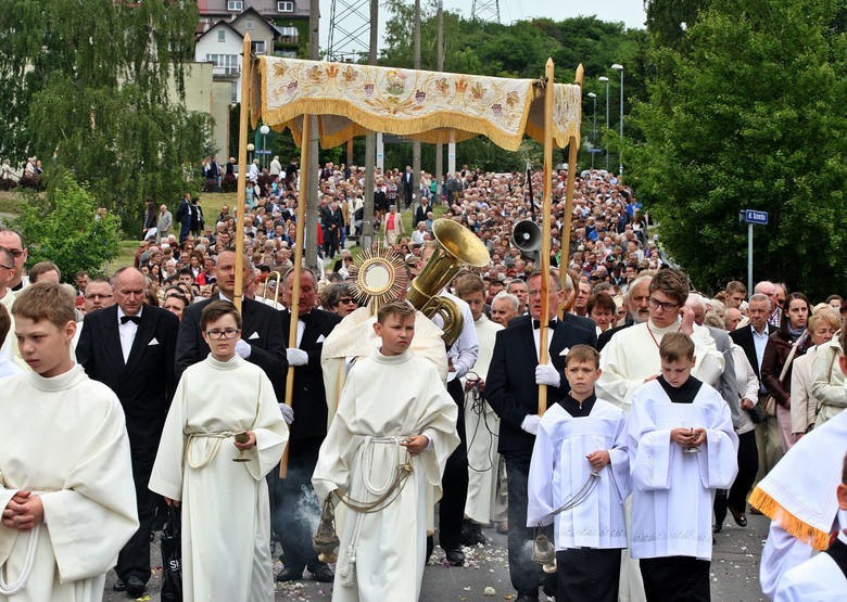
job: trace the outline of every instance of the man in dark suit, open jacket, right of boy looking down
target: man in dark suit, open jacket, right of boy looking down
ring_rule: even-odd
[[[760,404],[764,401],[768,393],[761,384],[761,360],[764,357],[768,338],[776,330],[768,323],[770,315],[770,299],[767,295],[757,293],[748,302],[747,317],[750,323],[730,333],[732,341],[744,349],[744,354],[759,379]],[[742,411],[753,410],[753,405],[744,400],[741,409]],[[776,464],[781,456],[782,438],[774,417],[763,417],[762,422],[756,425],[756,431],[738,436],[738,475],[726,497],[726,503],[732,509],[733,515],[744,516],[747,494],[753,489],[754,483],[764,476]],[[747,520],[744,517],[744,523],[746,522]]]

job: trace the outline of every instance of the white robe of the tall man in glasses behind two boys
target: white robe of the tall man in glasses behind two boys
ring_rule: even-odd
[[[601,351],[603,373],[596,385],[597,397],[628,410],[633,394],[644,384],[645,379],[661,373],[661,340],[666,334],[679,330],[679,322],[667,328],[644,322],[615,333]],[[694,324],[691,338],[696,358],[692,376],[716,386],[723,372],[723,355],[706,328]]]

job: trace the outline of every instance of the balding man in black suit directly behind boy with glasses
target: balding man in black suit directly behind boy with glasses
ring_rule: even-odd
[[[244,289],[251,282],[252,268],[244,261]],[[194,303],[182,313],[179,336],[176,344],[177,379],[182,371],[208,355],[208,345],[200,332],[200,315],[203,308],[213,300],[232,300],[236,291],[236,254],[223,251],[217,257],[215,267],[218,296]],[[285,354],[285,338],[280,324],[279,311],[263,303],[243,298],[241,300],[241,341],[236,345],[236,353],[251,363],[258,366],[270,383],[277,400],[283,399],[283,382],[288,362]]]

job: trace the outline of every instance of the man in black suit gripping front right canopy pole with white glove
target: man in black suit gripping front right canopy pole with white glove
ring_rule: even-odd
[[[530,316],[511,321],[509,328],[497,333],[494,353],[485,383],[485,399],[500,417],[500,451],[506,460],[508,477],[508,558],[511,585],[518,591],[516,602],[536,602],[541,566],[526,553],[528,541],[533,538],[527,528],[527,478],[529,476],[532,446],[539,426],[539,385],[547,385],[547,405],[558,402],[570,390],[565,379],[562,351],[574,345],[597,343],[594,322],[566,313],[557,320],[561,302],[559,279],[548,276],[547,299],[541,296],[540,272],[532,274],[529,286]],[[555,320],[548,331],[549,363],[539,364],[540,330],[535,325],[546,303],[549,316]],[[548,534],[552,536],[552,533]],[[555,591],[555,580],[549,584]]]

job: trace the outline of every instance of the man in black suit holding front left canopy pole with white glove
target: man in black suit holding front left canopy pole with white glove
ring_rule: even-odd
[[[294,271],[283,279],[282,303],[291,307],[294,293]],[[316,581],[331,582],[332,571],[312,549],[312,526],[305,515],[317,516],[319,509],[312,492],[312,473],[315,472],[320,444],[327,436],[327,394],[320,369],[324,340],[341,318],[330,311],[315,309],[317,281],[315,274],[303,270],[300,276],[298,305],[298,344],[287,349],[288,362],[294,367],[294,422],[288,440],[288,476],[279,478],[271,471],[273,507],[270,522],[282,543],[285,568],[277,581],[292,581],[303,577],[308,567]],[[283,341],[288,343],[291,310],[281,312]],[[333,400],[334,401],[334,400]]]

